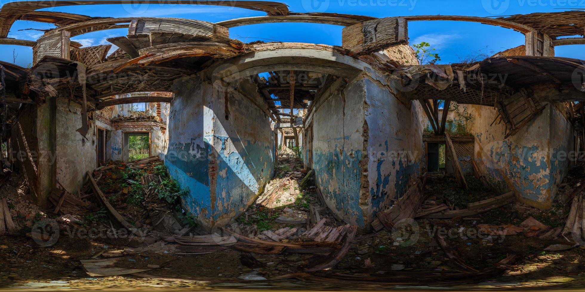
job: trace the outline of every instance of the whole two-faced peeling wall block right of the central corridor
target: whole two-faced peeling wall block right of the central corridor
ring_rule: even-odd
[[[315,183],[329,209],[367,229],[421,174],[426,117],[416,103],[360,74],[319,96],[312,123]]]

